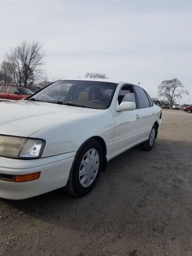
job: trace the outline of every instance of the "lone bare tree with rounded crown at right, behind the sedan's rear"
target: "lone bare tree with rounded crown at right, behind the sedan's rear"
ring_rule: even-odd
[[[164,80],[158,85],[158,94],[167,99],[172,106],[175,98],[182,98],[182,94],[189,94],[187,90],[183,90],[183,87],[178,78]]]

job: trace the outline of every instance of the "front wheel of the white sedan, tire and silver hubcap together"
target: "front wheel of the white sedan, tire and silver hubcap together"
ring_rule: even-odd
[[[71,166],[68,182],[64,191],[80,197],[93,189],[102,170],[102,148],[97,140],[87,140],[77,151]]]

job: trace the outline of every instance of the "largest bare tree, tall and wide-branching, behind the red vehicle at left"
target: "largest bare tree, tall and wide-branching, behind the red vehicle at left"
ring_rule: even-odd
[[[14,83],[24,87],[35,83],[43,72],[44,56],[43,45],[39,42],[24,41],[11,48],[6,60],[10,63]]]

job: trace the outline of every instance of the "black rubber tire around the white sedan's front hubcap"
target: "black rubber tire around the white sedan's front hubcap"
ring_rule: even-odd
[[[96,149],[99,153],[99,158],[100,158],[99,170],[98,170],[97,176],[95,177],[91,185],[89,187],[83,187],[79,182],[79,167],[85,153],[92,148]],[[98,181],[100,172],[102,170],[102,165],[103,165],[103,153],[102,153],[102,148],[99,142],[95,139],[87,140],[85,143],[83,143],[83,145],[77,151],[73,165],[71,166],[67,185],[66,187],[63,188],[63,190],[67,194],[73,195],[76,197],[81,197],[90,193]]]

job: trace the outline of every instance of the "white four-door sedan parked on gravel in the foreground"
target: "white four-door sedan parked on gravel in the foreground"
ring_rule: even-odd
[[[106,163],[135,145],[154,146],[161,109],[145,90],[108,79],[57,81],[0,103],[0,197],[63,188],[89,193]]]

